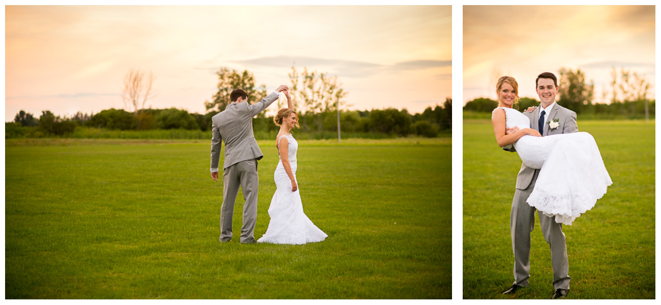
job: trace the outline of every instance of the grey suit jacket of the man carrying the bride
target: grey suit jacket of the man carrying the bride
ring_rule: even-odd
[[[539,119],[539,109],[541,107],[535,108],[533,112],[524,112],[524,116],[530,119],[530,128],[537,130],[537,119]],[[575,133],[578,131],[578,125],[576,124],[576,112],[568,110],[559,104],[555,104],[551,113],[549,114],[546,121],[551,121],[552,119],[559,119],[560,126],[553,130],[549,130],[549,124],[544,123],[544,133],[542,136],[547,135],[559,135],[561,133]],[[503,147],[505,151],[515,152],[516,150],[512,145]],[[526,189],[530,183],[533,181],[533,175],[535,174],[534,168],[529,168],[525,163],[521,164],[521,170],[519,170],[518,176],[516,176],[516,188]]]

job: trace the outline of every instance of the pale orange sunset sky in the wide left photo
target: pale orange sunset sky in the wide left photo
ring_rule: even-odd
[[[451,7],[7,6],[5,121],[125,108],[130,69],[155,77],[145,108],[204,113],[220,67],[273,90],[294,62],[337,75],[350,109],[422,112],[451,96]]]

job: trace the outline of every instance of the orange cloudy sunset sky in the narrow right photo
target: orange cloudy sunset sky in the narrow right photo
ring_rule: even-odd
[[[594,81],[594,102],[605,102],[615,67],[644,75],[655,98],[654,6],[464,6],[463,104],[496,99],[498,77],[535,98],[542,72],[580,69]]]

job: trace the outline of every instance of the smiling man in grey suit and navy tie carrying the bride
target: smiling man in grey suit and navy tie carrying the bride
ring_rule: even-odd
[[[558,92],[558,80],[553,73],[541,73],[535,80],[537,95],[541,103],[532,112],[524,112],[530,119],[530,128],[537,129],[544,137],[560,133],[578,131],[576,112],[568,110],[555,103]],[[515,130],[508,130],[508,133]],[[514,152],[512,145],[503,148]],[[513,294],[520,288],[528,287],[530,277],[530,233],[535,226],[535,208],[527,204],[537,181],[538,169],[529,168],[524,164],[516,178],[516,191],[512,200],[510,215],[510,231],[512,233],[512,250],[514,252],[514,283],[512,287],[502,292]],[[565,246],[563,225],[555,222],[555,217],[539,215],[539,224],[544,239],[551,246],[551,265],[553,265],[553,287],[555,292],[551,298],[563,298],[569,293],[569,263]]]

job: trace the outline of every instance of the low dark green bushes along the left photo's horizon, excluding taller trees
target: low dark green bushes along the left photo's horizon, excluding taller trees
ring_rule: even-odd
[[[188,129],[209,131],[212,117],[218,111],[207,114],[189,113],[176,108],[141,109],[137,116],[123,109],[102,110],[97,114],[81,112],[69,118],[55,116],[50,111],[42,112],[36,119],[23,110],[13,122],[5,123],[5,138],[65,136],[76,128],[110,130],[150,130],[150,129]],[[451,99],[447,98],[444,106],[428,107],[421,114],[409,114],[406,109],[397,110],[353,110],[340,112],[340,130],[344,133],[383,133],[406,137],[419,135],[437,137],[451,129]],[[337,120],[333,113],[313,114],[305,112],[299,115],[303,133],[332,133],[337,131]],[[254,131],[278,131],[280,127],[273,123],[272,116],[253,119]]]

